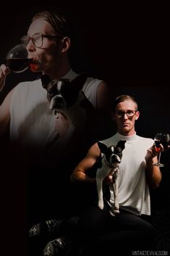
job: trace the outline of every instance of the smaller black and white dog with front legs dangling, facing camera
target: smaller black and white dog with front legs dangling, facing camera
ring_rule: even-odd
[[[111,193],[111,202],[114,205],[111,207],[111,215],[119,213],[119,202],[118,202],[118,186],[117,176],[119,173],[119,163],[122,161],[122,151],[125,148],[126,141],[118,141],[116,146],[106,146],[103,142],[98,141],[98,147],[101,149],[101,168],[98,168],[96,173],[96,184],[98,191],[98,207],[103,210],[103,180],[106,176],[112,176],[113,183],[109,186]]]

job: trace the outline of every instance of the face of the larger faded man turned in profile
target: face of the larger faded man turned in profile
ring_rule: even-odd
[[[34,20],[30,24],[27,36],[32,37],[35,34],[46,36],[56,36],[51,25],[42,18]],[[42,46],[35,47],[33,41],[27,44],[28,58],[33,58],[35,63],[35,72],[51,70],[60,62],[61,57],[61,39],[43,38]]]

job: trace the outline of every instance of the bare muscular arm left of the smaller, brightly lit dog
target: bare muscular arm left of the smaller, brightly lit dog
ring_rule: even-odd
[[[95,143],[90,147],[86,157],[77,165],[73,171],[70,177],[71,181],[75,183],[95,183],[95,178],[90,178],[86,172],[94,165],[99,156],[100,149],[98,148],[98,144]]]

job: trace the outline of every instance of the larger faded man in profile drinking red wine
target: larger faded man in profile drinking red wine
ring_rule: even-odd
[[[31,65],[33,72],[43,72],[56,80],[59,78],[72,80],[77,76],[69,64],[68,51],[71,44],[69,24],[63,15],[38,13],[33,17],[27,36],[22,37],[22,42],[27,46],[28,58],[33,59]],[[6,65],[1,65],[1,89],[9,72]],[[93,78],[88,78],[82,86],[85,96],[97,109],[103,109],[108,104],[107,89],[106,83]],[[70,126],[69,120],[64,115],[59,113],[56,118],[53,112],[49,111],[46,89],[42,88],[41,79],[21,83],[10,91],[1,104],[0,113],[2,124],[0,134],[3,135],[7,131],[10,120],[11,138],[20,139],[27,147],[33,145],[44,149],[48,145],[50,148],[51,144],[54,146],[54,142],[55,145],[58,143],[59,138],[64,138]],[[33,148],[29,153],[34,157],[32,150]],[[43,165],[42,154],[40,157]],[[37,158],[34,157],[35,162],[40,160]],[[53,164],[54,162],[48,161],[47,165],[49,167]]]

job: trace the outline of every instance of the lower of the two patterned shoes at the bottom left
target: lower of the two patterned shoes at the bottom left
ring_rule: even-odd
[[[49,241],[43,249],[43,256],[56,256],[69,254],[72,249],[72,240],[66,236],[61,236],[58,239]]]

